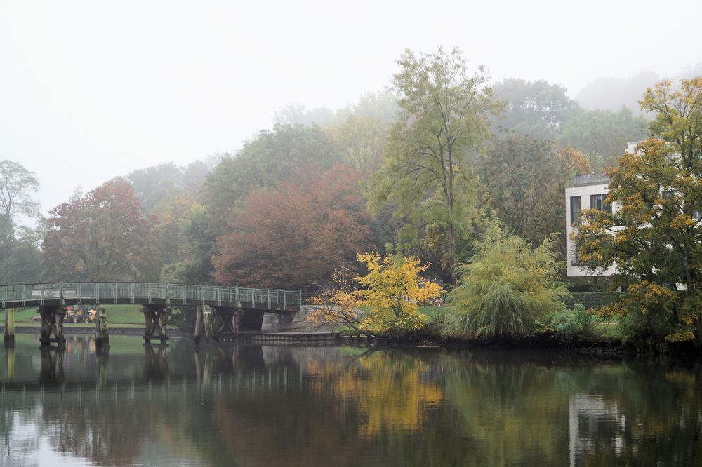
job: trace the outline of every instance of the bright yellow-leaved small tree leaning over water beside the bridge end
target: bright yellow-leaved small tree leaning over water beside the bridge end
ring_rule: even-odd
[[[357,255],[368,273],[357,276],[362,288],[330,290],[315,299],[319,305],[308,316],[315,325],[346,324],[376,339],[388,339],[418,330],[429,317],[419,306],[441,295],[437,283],[424,280],[427,269],[416,257],[378,253]]]

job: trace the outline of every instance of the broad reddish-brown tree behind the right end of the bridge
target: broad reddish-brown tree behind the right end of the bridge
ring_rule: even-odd
[[[246,197],[213,257],[219,283],[305,287],[329,278],[347,258],[370,246],[371,231],[359,174],[345,165],[311,175],[304,184]]]

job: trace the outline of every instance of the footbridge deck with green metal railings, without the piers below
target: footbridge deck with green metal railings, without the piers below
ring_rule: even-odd
[[[225,306],[273,312],[298,311],[297,290],[135,282],[1,285],[0,308],[60,304],[164,304]]]

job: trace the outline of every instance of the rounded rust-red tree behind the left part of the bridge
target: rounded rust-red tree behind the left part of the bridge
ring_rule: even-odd
[[[153,219],[131,184],[110,180],[49,212],[44,280],[132,280],[150,266]]]

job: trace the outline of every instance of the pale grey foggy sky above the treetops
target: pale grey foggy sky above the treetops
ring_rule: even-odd
[[[404,48],[459,46],[495,81],[674,75],[693,0],[0,0],[0,158],[45,210],[135,168],[234,151],[274,111],[383,90]]]

